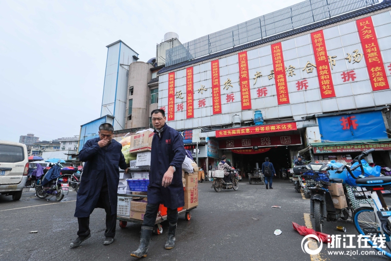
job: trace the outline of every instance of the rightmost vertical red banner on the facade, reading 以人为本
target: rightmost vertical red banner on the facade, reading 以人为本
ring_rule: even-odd
[[[371,17],[356,21],[373,91],[390,89]]]

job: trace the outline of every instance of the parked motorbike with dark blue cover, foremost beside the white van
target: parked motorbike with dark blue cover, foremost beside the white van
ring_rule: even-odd
[[[69,184],[68,177],[61,175],[61,166],[59,164],[52,166],[42,179],[37,181],[35,187],[35,195],[38,198],[50,198],[56,196],[57,201],[63,200],[64,196],[68,194]],[[50,200],[47,199],[47,201]]]

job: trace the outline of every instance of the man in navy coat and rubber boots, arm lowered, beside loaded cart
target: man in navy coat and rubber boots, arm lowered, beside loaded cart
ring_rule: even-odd
[[[159,204],[167,207],[169,221],[168,239],[164,247],[166,249],[174,247],[176,222],[178,221],[177,208],[185,205],[182,163],[186,152],[183,138],[178,131],[165,124],[166,116],[163,110],[152,111],[151,117],[155,131],[152,138],[148,204],[141,226],[140,246],[130,254],[136,258],[147,256]]]

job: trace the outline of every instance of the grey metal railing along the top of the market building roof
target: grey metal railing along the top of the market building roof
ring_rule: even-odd
[[[166,67],[260,40],[378,3],[306,0],[166,50]]]

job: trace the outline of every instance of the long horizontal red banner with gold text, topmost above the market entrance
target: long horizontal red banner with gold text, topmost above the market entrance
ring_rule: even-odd
[[[216,138],[261,134],[261,133],[268,133],[268,132],[290,131],[290,130],[297,130],[296,122],[251,126],[246,128],[236,128],[236,129],[227,129],[227,130],[217,130]]]

